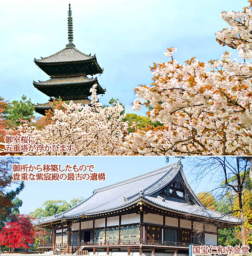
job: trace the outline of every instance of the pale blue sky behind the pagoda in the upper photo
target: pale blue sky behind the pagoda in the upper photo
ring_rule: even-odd
[[[19,100],[23,94],[34,103],[49,97],[32,81],[47,80],[33,59],[62,50],[67,44],[68,0],[1,0],[0,96]],[[163,52],[177,47],[175,58],[184,62],[218,59],[226,47],[215,32],[227,27],[223,10],[242,10],[246,0],[71,0],[74,44],[96,54],[104,73],[98,76],[106,94],[100,101],[118,98],[126,113],[134,113],[134,88],[151,84],[149,66],[167,61]],[[235,55],[236,57],[236,55]],[[135,112],[137,113],[137,112]],[[140,112],[145,113],[145,110]]]

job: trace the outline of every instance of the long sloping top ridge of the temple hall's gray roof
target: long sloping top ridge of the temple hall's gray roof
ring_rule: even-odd
[[[114,184],[106,186],[106,187],[101,187],[101,188],[95,189],[94,191],[95,192],[102,192],[102,191],[105,191],[105,190],[108,190],[108,189],[111,189],[111,188],[114,188],[114,187],[119,187],[119,186],[124,185],[124,184],[128,184],[128,183],[132,183],[132,182],[138,181],[139,179],[148,178],[148,177],[151,177],[153,175],[157,175],[157,174],[160,174],[162,172],[166,172],[166,169],[168,167],[170,167],[172,165],[176,165],[176,164],[177,164],[177,162],[175,162],[173,164],[170,164],[170,165],[166,165],[164,167],[161,167],[161,168],[156,169],[154,171],[148,172],[146,174],[141,174],[139,176],[136,176],[136,177],[133,177],[133,178],[129,178],[129,179],[126,179],[124,181],[121,181],[121,182],[118,182],[118,183],[114,183]]]

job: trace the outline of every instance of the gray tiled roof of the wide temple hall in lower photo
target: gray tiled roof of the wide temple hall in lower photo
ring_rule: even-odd
[[[167,199],[165,201],[158,199],[157,196],[155,196],[155,192],[171,183],[179,172],[184,178],[180,162],[167,165],[120,183],[97,189],[91,197],[81,202],[81,204],[63,213],[45,217],[40,220],[34,220],[33,223],[42,224],[63,218],[71,219],[82,215],[105,213],[130,206],[138,200],[146,200],[157,206],[176,212],[202,216],[204,218],[221,219],[231,223],[239,222],[238,218],[230,215],[223,216],[221,213],[206,209],[201,203],[191,205],[180,199]],[[197,199],[193,192],[192,195]],[[198,199],[196,201],[198,201]]]

